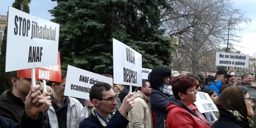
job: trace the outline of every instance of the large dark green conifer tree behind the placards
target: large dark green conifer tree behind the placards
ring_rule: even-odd
[[[56,1],[56,0],[52,0]],[[142,54],[143,68],[169,66],[170,41],[162,36],[161,1],[66,1],[50,10],[60,24],[59,51],[67,65],[103,74],[113,73],[112,38]]]

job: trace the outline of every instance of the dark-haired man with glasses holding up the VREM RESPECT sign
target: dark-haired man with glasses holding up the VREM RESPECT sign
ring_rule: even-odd
[[[116,112],[115,92],[109,83],[99,82],[94,84],[89,96],[96,109],[80,123],[79,128],[124,128],[128,125],[129,119],[126,113],[131,111],[134,106],[133,93],[129,93],[123,99],[119,111]],[[112,115],[114,112],[115,114]]]

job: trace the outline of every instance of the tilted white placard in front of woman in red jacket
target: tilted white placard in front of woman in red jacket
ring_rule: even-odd
[[[214,102],[211,100],[209,94],[198,92],[196,94],[197,101],[195,102],[197,109],[201,113],[206,112],[218,112],[217,106],[214,104]]]

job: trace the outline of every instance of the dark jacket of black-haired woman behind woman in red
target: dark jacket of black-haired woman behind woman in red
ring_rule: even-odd
[[[164,127],[164,120],[167,117],[167,106],[169,104],[169,98],[174,98],[173,96],[168,96],[159,90],[152,89],[150,94],[150,104],[152,106],[152,111],[156,114],[156,128]]]

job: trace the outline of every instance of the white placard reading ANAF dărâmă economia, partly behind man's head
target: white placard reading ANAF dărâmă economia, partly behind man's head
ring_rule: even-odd
[[[89,99],[90,90],[97,82],[112,85],[113,79],[68,65],[64,95]]]

